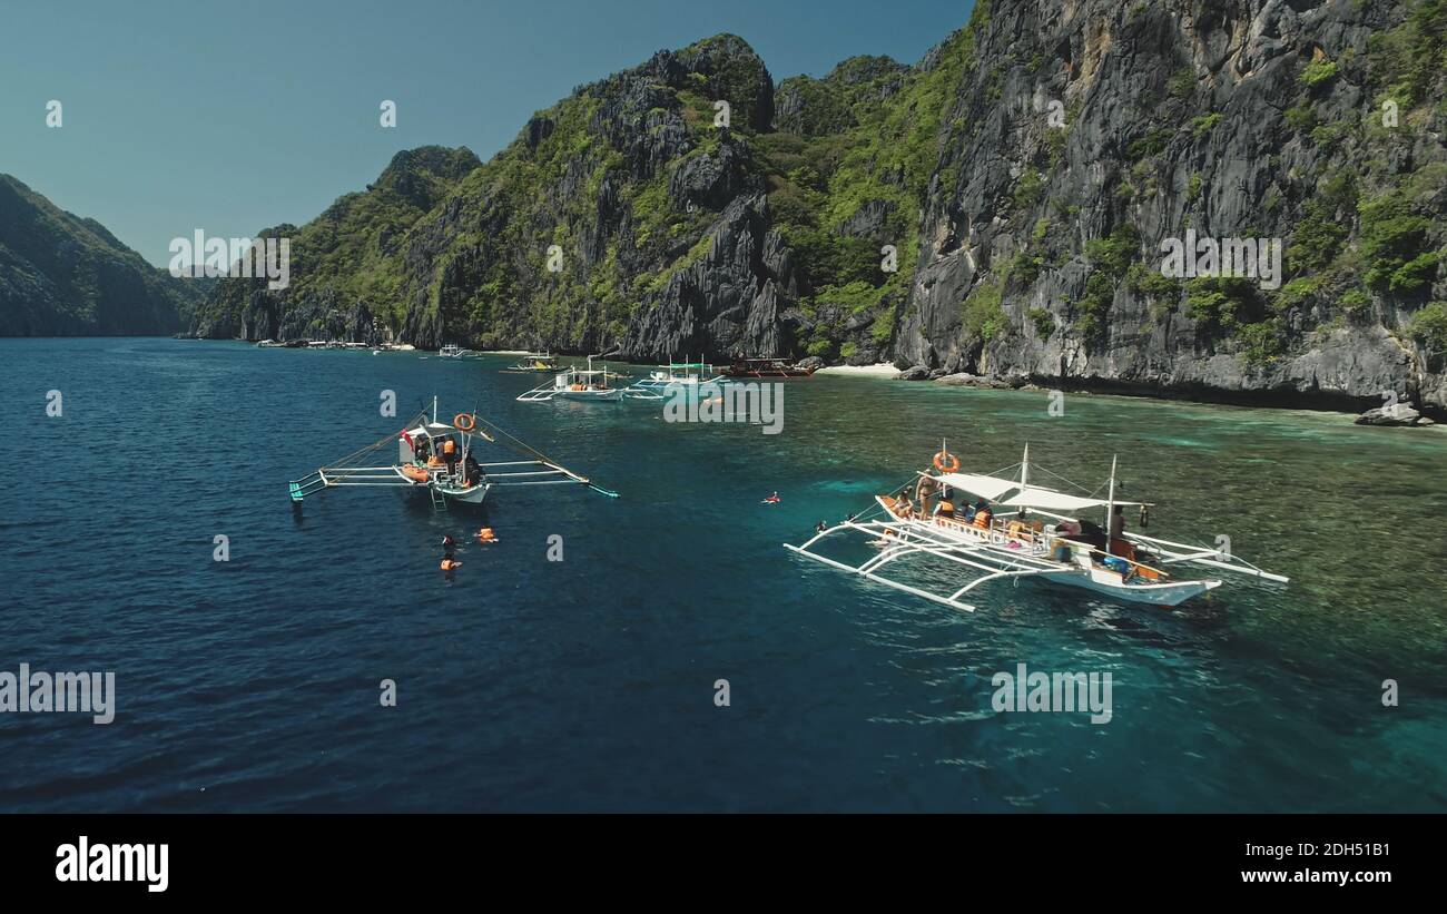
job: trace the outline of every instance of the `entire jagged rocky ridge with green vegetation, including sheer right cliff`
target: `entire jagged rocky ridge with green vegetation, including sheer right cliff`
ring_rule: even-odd
[[[777,87],[722,35],[486,163],[401,153],[197,330],[1440,411],[1444,35],[1441,0],[994,0]],[[1279,288],[1163,276],[1187,237],[1279,240]]]

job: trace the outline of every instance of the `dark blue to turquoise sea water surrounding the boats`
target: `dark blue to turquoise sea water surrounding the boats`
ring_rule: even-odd
[[[1447,808],[1440,430],[1085,395],[1052,418],[1043,392],[820,376],[763,435],[517,403],[535,379],[506,362],[0,340],[22,467],[0,670],[113,670],[119,693],[110,726],[0,714],[0,810]],[[395,431],[382,389],[476,403],[622,497],[294,513],[288,479]],[[1029,441],[1082,483],[1119,454],[1165,502],[1152,532],[1229,532],[1292,584],[1165,613],[1024,583],[962,615],[780,548],[942,435],[985,470]],[[446,580],[437,541],[482,522],[502,542]],[[1017,662],[1110,671],[1113,720],[994,713]]]

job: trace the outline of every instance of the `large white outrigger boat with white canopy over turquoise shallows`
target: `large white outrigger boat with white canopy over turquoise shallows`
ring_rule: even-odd
[[[1140,509],[1142,525],[1149,518],[1149,502],[1116,499],[1116,461],[1111,460],[1106,497],[1071,495],[1048,489],[1030,479],[1030,448],[1019,464],[1017,479],[997,473],[961,473],[959,458],[943,445],[935,454],[933,471],[916,473],[912,486],[891,495],[875,496],[877,508],[825,528],[803,545],[786,548],[826,565],[852,571],[880,584],[965,612],[975,606],[964,602],[967,593],[998,580],[1040,578],[1104,593],[1133,603],[1172,607],[1221,586],[1215,578],[1176,577],[1172,565],[1204,565],[1268,581],[1286,583],[1286,577],[1262,571],[1252,563],[1218,548],[1172,542],[1145,534],[1119,529],[1110,537],[1110,518],[1124,506]],[[1061,482],[1064,480],[1062,477]],[[913,489],[915,499],[910,499]],[[956,493],[978,496],[984,511],[967,508]],[[990,506],[994,502],[1000,511]],[[933,503],[933,506],[932,506]],[[1074,512],[1104,509],[1101,528],[1074,516]],[[1062,513],[1072,512],[1072,513]],[[1046,522],[1048,521],[1048,522]],[[818,544],[836,534],[865,534],[878,552],[849,564],[819,554]],[[922,558],[929,568],[951,570],[967,576],[952,590],[929,589],[886,574],[896,563]]]

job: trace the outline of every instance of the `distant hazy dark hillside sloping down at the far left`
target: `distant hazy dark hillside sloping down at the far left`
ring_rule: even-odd
[[[96,220],[0,175],[0,337],[171,334],[200,298]]]

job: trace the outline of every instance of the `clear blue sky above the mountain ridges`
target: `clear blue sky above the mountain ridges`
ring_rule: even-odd
[[[734,32],[774,81],[855,54],[916,62],[971,0],[7,4],[0,172],[164,266],[195,228],[305,223],[399,149],[488,159],[576,85]],[[46,103],[64,126],[45,126]],[[378,123],[396,101],[396,129]]]

